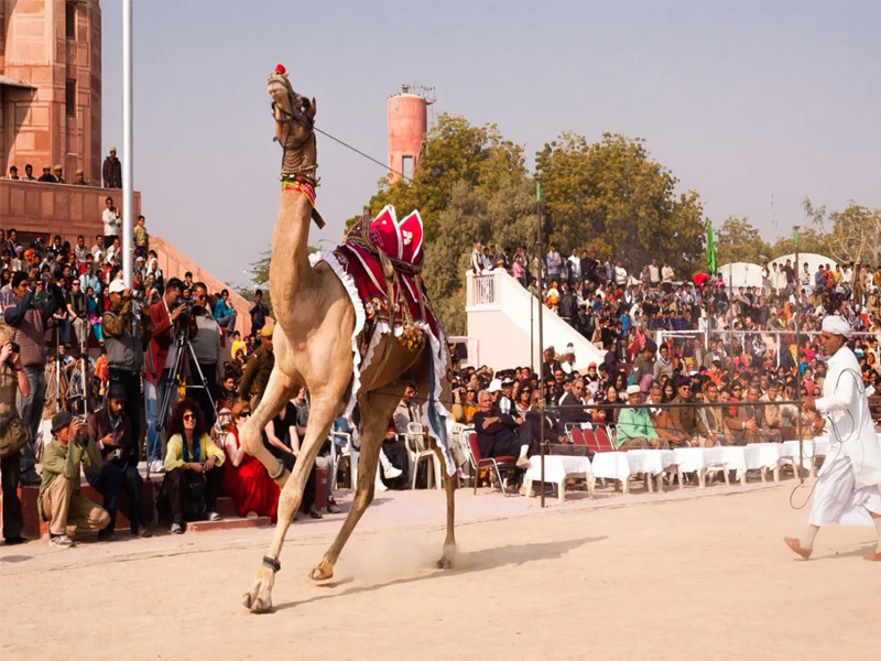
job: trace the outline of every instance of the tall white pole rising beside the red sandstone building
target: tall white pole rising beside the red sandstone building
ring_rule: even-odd
[[[132,283],[134,235],[134,151],[132,129],[132,21],[131,0],[122,0],[122,278]]]

